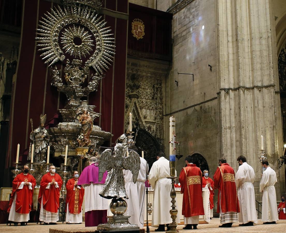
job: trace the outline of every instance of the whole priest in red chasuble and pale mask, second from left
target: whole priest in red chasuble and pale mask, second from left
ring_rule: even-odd
[[[43,175],[40,183],[38,202],[40,203],[39,220],[47,224],[57,224],[59,220],[59,191],[63,181],[55,173],[55,166],[49,167],[49,172]]]

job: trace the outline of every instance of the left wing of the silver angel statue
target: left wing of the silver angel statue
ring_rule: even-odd
[[[100,155],[98,163],[98,181],[102,180],[102,176],[106,170],[110,171],[112,168],[114,168],[114,163],[115,158],[112,156],[112,150],[104,150]]]

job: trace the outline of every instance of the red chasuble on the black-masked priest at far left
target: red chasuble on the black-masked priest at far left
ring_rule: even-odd
[[[29,185],[24,185],[23,189],[18,189],[21,183],[25,181],[32,183],[32,190],[29,189]],[[19,214],[29,214],[29,212],[32,210],[33,192],[35,185],[36,180],[29,173],[27,175],[24,175],[23,173],[18,174],[12,183],[12,194],[7,212],[10,212],[15,194],[17,193],[15,200],[15,211]]]

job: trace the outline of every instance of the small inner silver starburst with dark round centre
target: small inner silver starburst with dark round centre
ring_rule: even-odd
[[[68,27],[63,31],[61,44],[63,44],[63,49],[66,53],[75,57],[86,57],[86,54],[90,55],[94,45],[91,36],[83,27]]]

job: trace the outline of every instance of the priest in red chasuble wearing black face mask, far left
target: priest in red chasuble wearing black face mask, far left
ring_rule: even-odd
[[[36,185],[35,178],[29,174],[29,166],[23,166],[23,172],[16,175],[12,183],[12,194],[9,202],[9,221],[14,222],[14,226],[30,220],[30,211],[33,204],[33,192]]]

